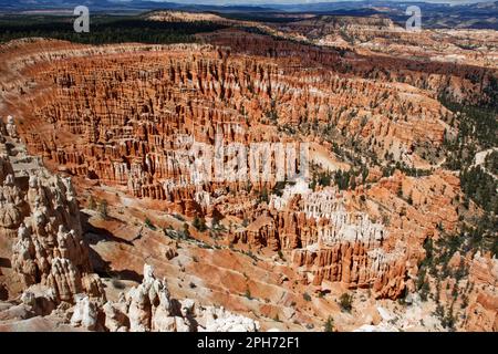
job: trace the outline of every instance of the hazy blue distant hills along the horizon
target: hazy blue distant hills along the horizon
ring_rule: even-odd
[[[248,0],[249,2],[249,0]],[[263,6],[206,6],[180,4],[175,2],[155,2],[131,0],[126,2],[112,0],[0,0],[0,12],[19,11],[55,11],[72,10],[76,6],[87,6],[92,11],[144,12],[152,10],[179,10],[190,12],[215,12],[236,19],[253,19],[272,21],[272,17],[281,19],[278,13],[312,13],[328,15],[369,17],[383,15],[397,23],[404,23],[408,6],[418,6],[423,13],[425,28],[470,28],[498,30],[498,1],[471,4],[378,1],[341,1],[302,4],[263,4]]]

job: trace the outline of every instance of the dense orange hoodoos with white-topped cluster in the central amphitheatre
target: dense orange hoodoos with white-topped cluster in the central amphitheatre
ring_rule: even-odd
[[[214,39],[218,40],[222,37]],[[231,45],[238,40],[246,39],[237,37]],[[253,41],[264,43],[258,37]],[[260,46],[247,50],[251,48]],[[403,160],[416,155],[413,145],[436,146],[444,139],[443,116],[450,113],[425,91],[310,67],[301,54],[283,61],[209,45],[174,45],[139,54],[108,48],[80,58],[79,52],[89,50],[74,49],[65,60],[42,61],[42,70],[35,72],[25,69],[34,80],[51,83],[27,118],[48,132],[24,134],[33,152],[69,174],[160,200],[170,211],[210,216],[217,210],[247,219],[249,225],[234,231],[230,240],[293,250],[294,263],[309,274],[305,278],[311,274],[305,281],[312,284],[344,282],[392,299],[403,293],[406,263],[408,259],[408,264],[416,263],[417,253],[396,244],[396,238],[390,241],[391,231],[380,220],[351,209],[349,196],[333,189],[310,192],[305,187],[273,199],[273,206],[263,210],[246,195],[246,180],[196,184],[189,153],[195,144],[211,146],[215,153],[217,140],[242,146],[307,140],[288,136],[278,126],[333,124],[364,144],[375,139],[377,156],[392,154]],[[310,51],[319,61],[323,55],[341,61],[331,51]],[[274,167],[279,158],[272,158]],[[251,180],[255,188],[274,181]],[[227,186],[239,197],[217,195]],[[421,232],[413,248],[424,237]]]

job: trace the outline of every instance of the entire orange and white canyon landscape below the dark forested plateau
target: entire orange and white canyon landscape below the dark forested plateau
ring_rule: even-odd
[[[141,21],[0,44],[0,331],[498,330],[495,30]]]

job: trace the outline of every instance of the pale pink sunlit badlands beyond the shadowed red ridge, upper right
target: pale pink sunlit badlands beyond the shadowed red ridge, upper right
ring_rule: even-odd
[[[287,35],[369,55],[425,59],[497,69],[498,42],[492,30],[409,31],[385,18],[315,17],[286,23]]]

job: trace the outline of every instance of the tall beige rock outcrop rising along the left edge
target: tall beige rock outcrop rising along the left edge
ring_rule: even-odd
[[[9,142],[0,156],[1,237],[13,241],[11,264],[24,288],[41,284],[53,300],[74,302],[74,295],[103,296],[100,279],[92,273],[89,248],[82,238],[80,210],[69,178],[52,176],[28,156],[20,158],[15,124],[10,117],[6,136]],[[13,147],[12,147],[13,146]],[[12,166],[29,160],[28,169],[17,173]],[[22,165],[23,167],[23,165]],[[28,174],[28,175],[27,175]],[[25,176],[27,175],[27,176]]]

